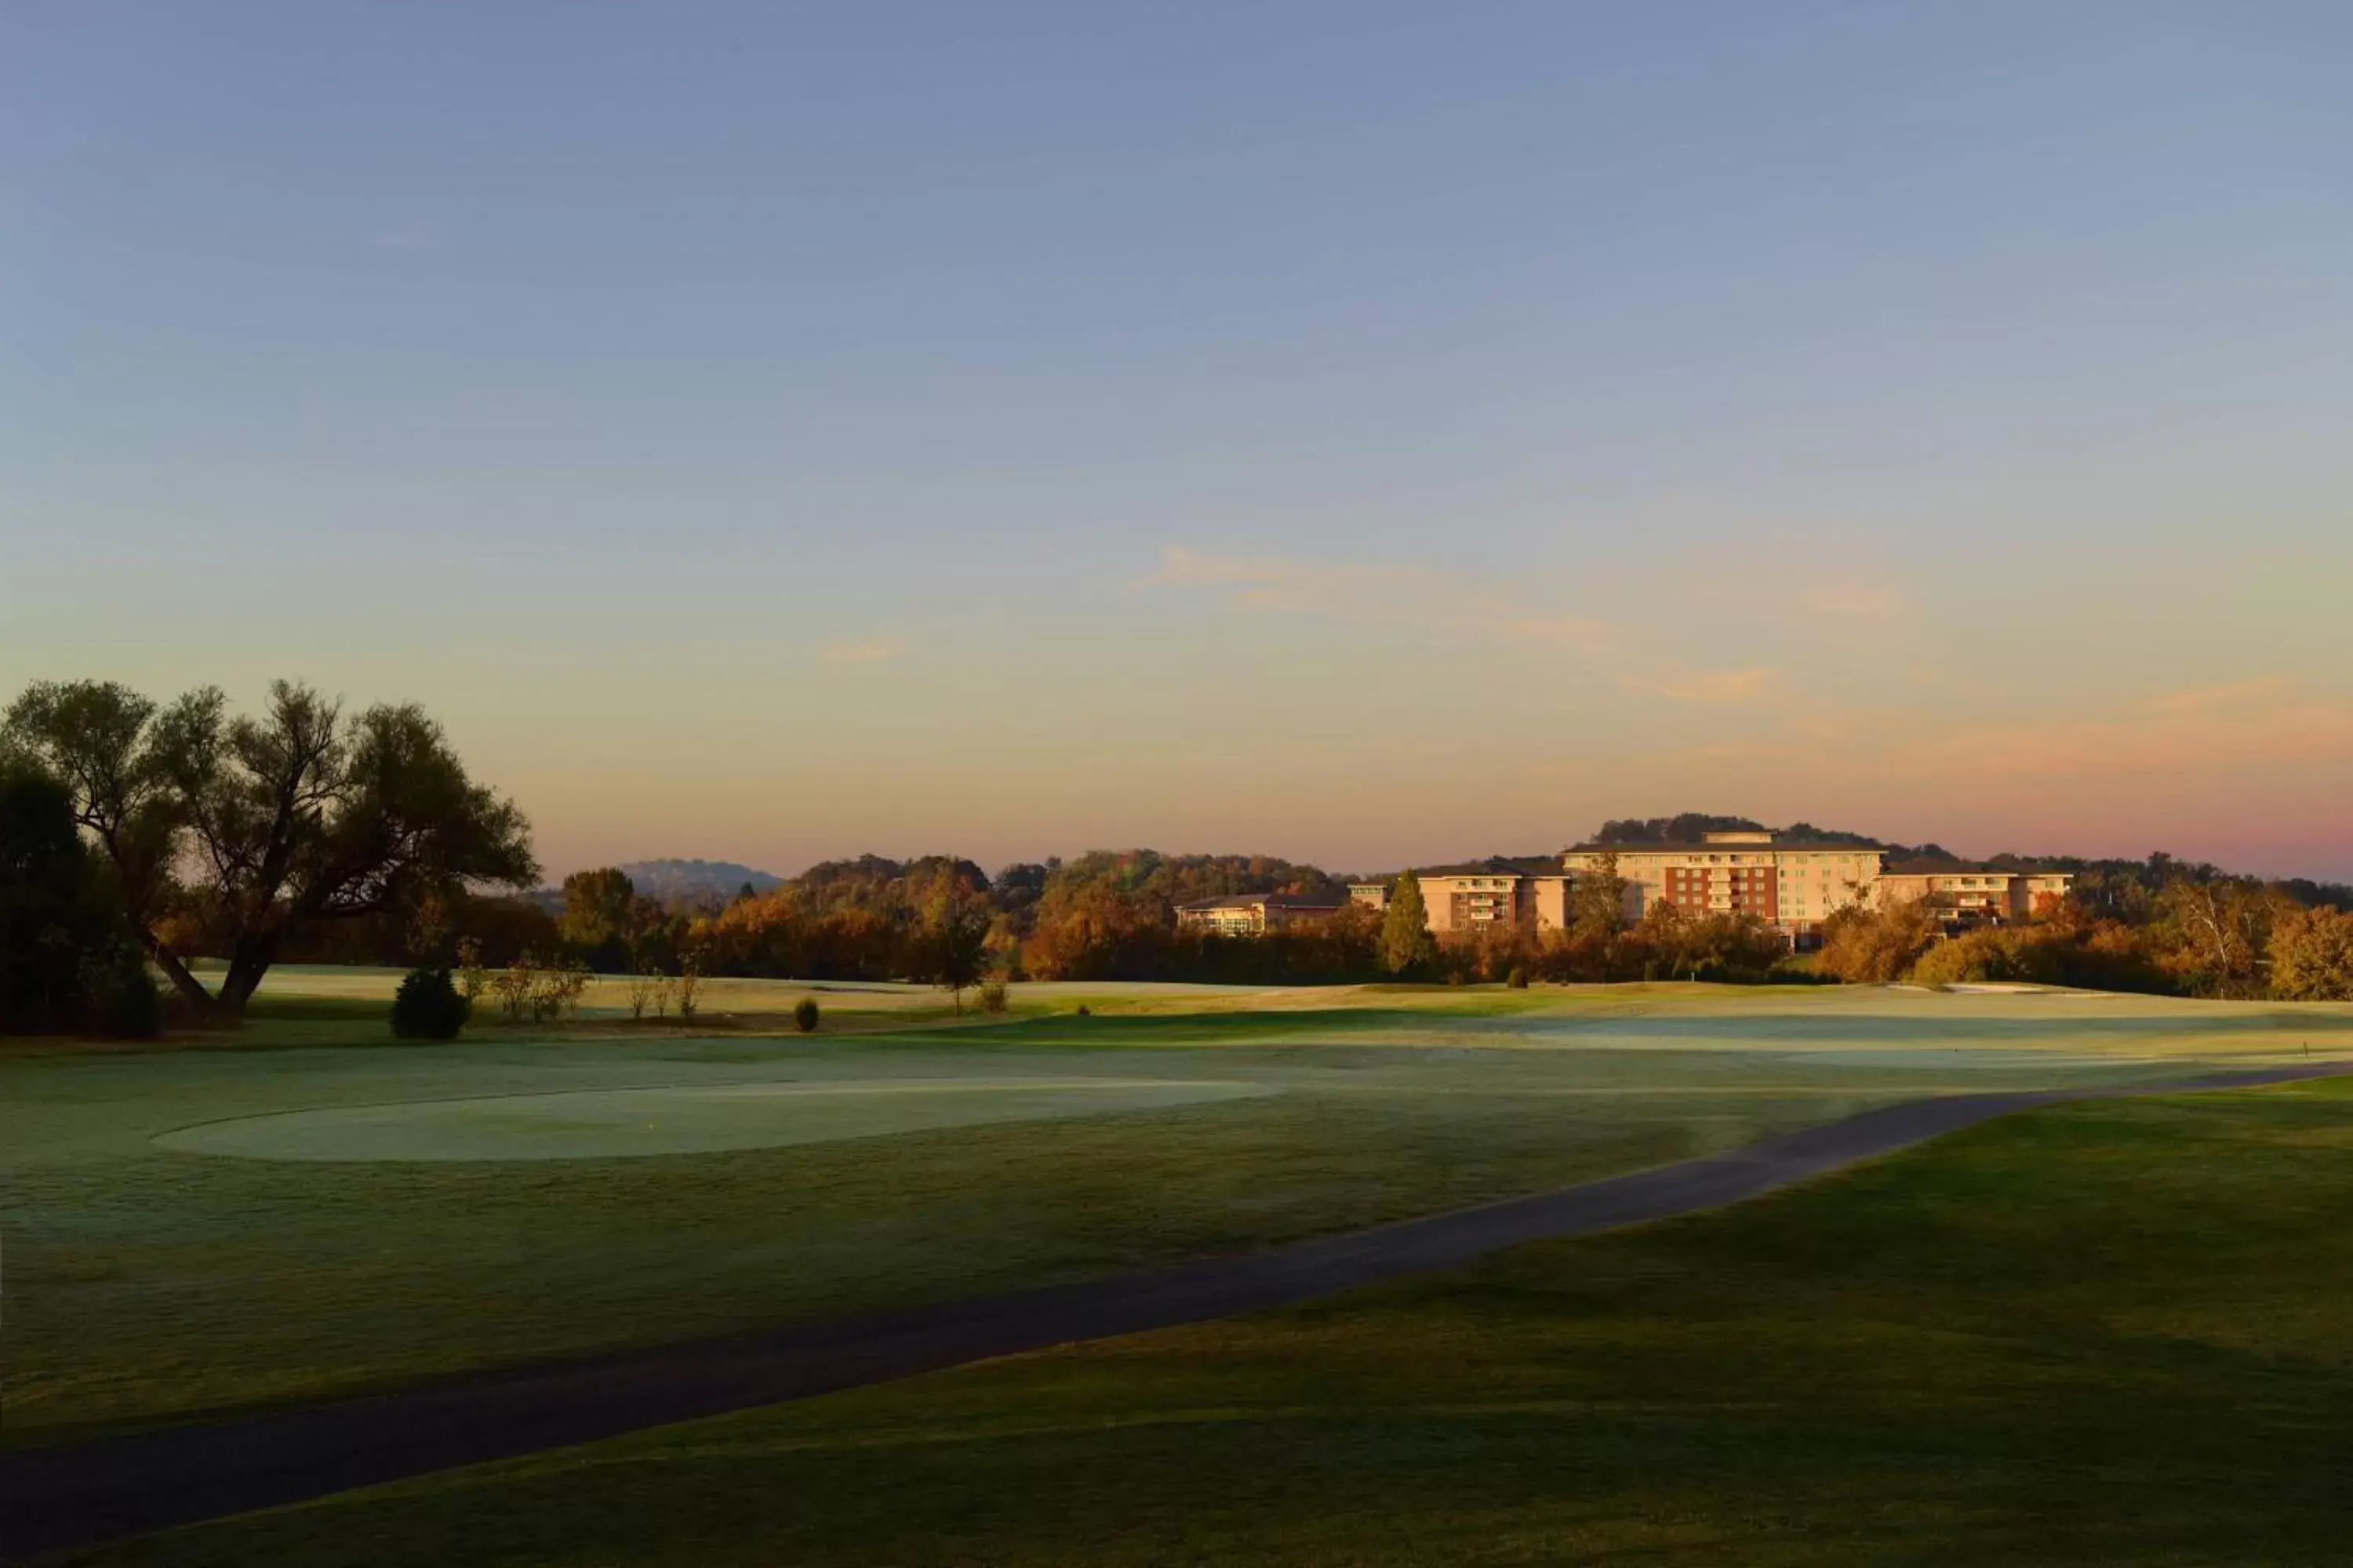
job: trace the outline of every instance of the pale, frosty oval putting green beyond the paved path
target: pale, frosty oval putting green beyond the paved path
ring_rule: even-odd
[[[828,1079],[673,1084],[336,1105],[205,1121],[160,1147],[238,1159],[471,1161],[711,1154],[984,1121],[1167,1110],[1278,1093],[1221,1079]]]

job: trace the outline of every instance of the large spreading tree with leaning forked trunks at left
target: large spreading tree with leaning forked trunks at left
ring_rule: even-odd
[[[132,931],[207,1011],[242,1011],[308,926],[539,879],[522,813],[473,783],[414,705],[346,719],[318,691],[273,682],[261,717],[231,717],[214,686],[160,708],[113,682],[40,682],[5,733],[66,783]],[[158,936],[179,898],[224,933],[216,994]]]

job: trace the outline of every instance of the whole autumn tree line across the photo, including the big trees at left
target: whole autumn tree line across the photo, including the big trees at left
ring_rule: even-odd
[[[1687,842],[1746,818],[1621,818],[1602,844]],[[1882,846],[1798,825],[1809,839]],[[1951,858],[1934,844],[1882,846]],[[153,1032],[148,966],[191,1020],[233,1020],[280,961],[449,971],[932,980],[2047,980],[2198,997],[2353,997],[2353,889],[2233,877],[2169,856],[2057,865],[2075,891],[2026,926],[1946,936],[1929,910],[1852,907],[1814,961],[1744,914],[1626,922],[1602,863],[1567,929],[1433,938],[1409,872],[1388,912],[1348,877],[1271,856],[1096,851],[993,877],[958,856],[826,860],[732,900],[656,900],[616,867],[558,907],[513,802],[468,778],[414,705],[355,715],[275,682],[259,715],[202,686],[172,703],[38,682],[0,717],[0,1030]],[[1344,903],[1228,938],[1176,907],[1233,893]],[[216,971],[207,964],[216,964]],[[216,973],[212,985],[200,969]]]

